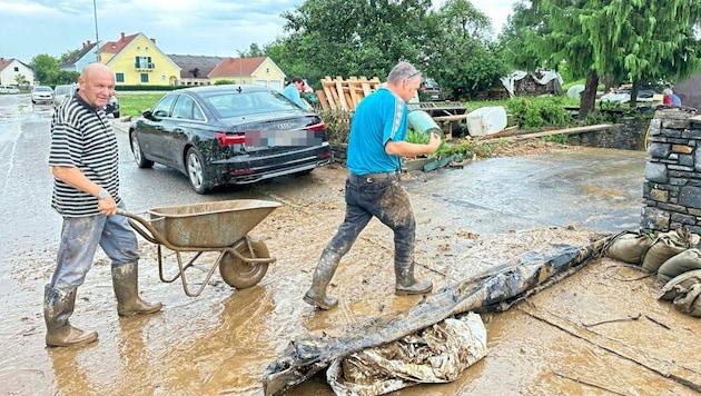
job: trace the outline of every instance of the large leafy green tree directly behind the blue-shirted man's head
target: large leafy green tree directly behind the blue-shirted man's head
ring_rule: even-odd
[[[431,0],[307,0],[283,13],[287,59],[320,76],[377,76],[398,60],[422,68],[441,32]]]

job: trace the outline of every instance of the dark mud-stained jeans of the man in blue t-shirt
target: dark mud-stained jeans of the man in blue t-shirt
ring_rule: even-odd
[[[340,256],[348,253],[373,216],[394,230],[395,263],[412,263],[416,221],[408,194],[399,184],[398,174],[375,179],[353,174],[348,176],[346,217],[326,249]]]

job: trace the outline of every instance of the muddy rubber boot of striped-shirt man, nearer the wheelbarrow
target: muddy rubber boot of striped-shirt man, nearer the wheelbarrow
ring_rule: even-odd
[[[162,304],[149,304],[139,297],[138,264],[129,261],[112,267],[112,286],[117,296],[117,314],[119,316],[148,315],[159,311]]]

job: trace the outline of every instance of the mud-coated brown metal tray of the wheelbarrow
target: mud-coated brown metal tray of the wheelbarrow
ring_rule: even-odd
[[[151,208],[151,225],[171,245],[184,248],[225,248],[241,240],[279,202],[233,199]]]

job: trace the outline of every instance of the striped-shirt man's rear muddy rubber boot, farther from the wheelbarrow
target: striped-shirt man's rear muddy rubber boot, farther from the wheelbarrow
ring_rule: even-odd
[[[43,320],[47,324],[47,346],[66,347],[97,340],[97,331],[83,331],[68,320],[76,306],[76,288],[43,289]]]

